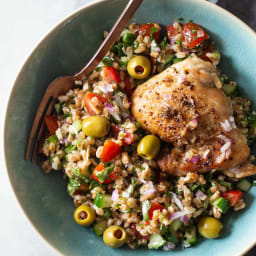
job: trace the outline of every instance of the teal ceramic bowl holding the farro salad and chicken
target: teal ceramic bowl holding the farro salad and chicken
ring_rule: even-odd
[[[10,181],[25,214],[42,237],[65,255],[166,255],[164,251],[111,249],[90,228],[73,220],[74,206],[61,173],[44,174],[24,160],[31,124],[40,99],[56,77],[79,71],[95,52],[126,1],[98,1],[75,12],[51,31],[24,64],[12,91],[5,123],[5,155]],[[166,25],[179,17],[208,29],[223,53],[224,71],[256,103],[256,36],[244,23],[203,0],[144,0],[133,21]],[[246,196],[247,209],[224,219],[221,239],[175,250],[173,256],[241,255],[256,242],[256,189]],[[169,253],[168,253],[169,254]]]

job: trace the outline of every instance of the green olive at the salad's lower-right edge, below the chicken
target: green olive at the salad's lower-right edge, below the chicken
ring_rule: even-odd
[[[213,217],[203,217],[198,222],[198,232],[205,238],[219,237],[222,228],[222,223]]]

